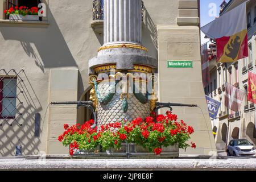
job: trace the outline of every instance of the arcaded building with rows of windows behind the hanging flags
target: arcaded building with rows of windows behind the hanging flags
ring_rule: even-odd
[[[230,0],[224,3],[220,15],[227,13],[245,1]],[[223,5],[223,4],[222,4]],[[216,62],[216,45],[209,45],[210,82],[205,87],[208,96],[221,102],[218,117],[212,119],[214,139],[217,150],[225,150],[226,143],[231,139],[245,138],[256,144],[255,104],[244,98],[241,109],[237,113],[225,106],[225,82],[236,86],[247,94],[248,71],[255,71],[256,60],[256,2],[247,2],[247,30],[249,57],[234,63]]]

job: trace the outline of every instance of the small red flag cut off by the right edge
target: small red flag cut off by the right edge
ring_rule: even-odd
[[[256,104],[256,75],[248,72],[247,100]]]

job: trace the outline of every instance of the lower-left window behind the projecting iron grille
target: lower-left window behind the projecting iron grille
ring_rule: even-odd
[[[16,77],[0,77],[0,118],[15,118]]]

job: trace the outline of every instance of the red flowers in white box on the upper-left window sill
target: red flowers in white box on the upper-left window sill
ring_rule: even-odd
[[[9,10],[5,10],[4,13],[10,20],[34,20],[38,21],[38,7],[31,7],[28,9],[26,6],[11,7]]]

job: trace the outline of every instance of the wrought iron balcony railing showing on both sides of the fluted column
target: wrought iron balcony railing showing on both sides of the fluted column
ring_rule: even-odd
[[[142,21],[144,19],[144,2],[142,1],[141,13]],[[94,0],[93,1],[93,20],[103,20],[104,19],[104,0]]]

